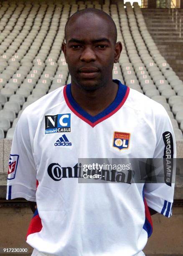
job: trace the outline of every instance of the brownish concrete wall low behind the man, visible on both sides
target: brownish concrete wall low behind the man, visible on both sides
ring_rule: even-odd
[[[32,216],[28,207],[0,208],[0,247],[28,248],[31,253],[33,248],[25,242],[25,237]],[[183,207],[174,207],[170,218],[155,214],[152,222],[153,233],[144,249],[146,256],[183,255]]]

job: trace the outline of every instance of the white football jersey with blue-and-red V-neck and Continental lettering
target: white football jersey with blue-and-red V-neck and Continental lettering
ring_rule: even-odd
[[[7,200],[37,203],[26,241],[42,253],[142,255],[152,233],[147,205],[172,215],[174,184],[79,183],[79,158],[176,157],[163,106],[114,82],[114,102],[96,116],[81,109],[68,84],[29,105],[18,121]]]

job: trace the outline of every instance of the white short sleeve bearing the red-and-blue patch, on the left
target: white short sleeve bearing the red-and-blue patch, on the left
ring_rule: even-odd
[[[23,111],[15,128],[10,152],[6,199],[17,197],[36,202],[36,166],[33,159],[30,126]]]

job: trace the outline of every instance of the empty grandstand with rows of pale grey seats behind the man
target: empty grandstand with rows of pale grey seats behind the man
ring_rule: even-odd
[[[117,26],[123,51],[114,79],[160,102],[182,139],[183,82],[160,54],[138,3],[21,0],[0,3],[0,139],[13,138],[26,106],[71,81],[61,52],[64,26],[74,12],[91,7],[111,15]]]

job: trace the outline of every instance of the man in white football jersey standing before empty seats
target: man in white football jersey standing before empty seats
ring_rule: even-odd
[[[109,15],[77,12],[65,37],[71,84],[23,111],[7,199],[37,204],[27,234],[34,256],[144,255],[152,233],[148,207],[170,217],[173,185],[79,183],[78,159],[163,158],[167,134],[175,157],[170,119],[160,104],[112,80],[122,44]]]

